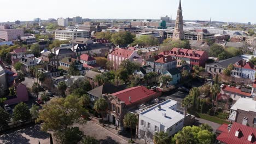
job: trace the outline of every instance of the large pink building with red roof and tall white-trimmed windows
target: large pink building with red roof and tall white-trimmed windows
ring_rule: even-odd
[[[109,55],[108,60],[113,61],[114,69],[117,69],[122,61],[129,59],[131,62],[142,64],[142,58],[136,51],[125,49],[114,49]]]

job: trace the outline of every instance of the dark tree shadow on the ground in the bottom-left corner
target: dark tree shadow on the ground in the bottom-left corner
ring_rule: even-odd
[[[19,131],[20,133],[20,131]],[[18,134],[17,131],[10,134],[5,134],[0,136],[0,140],[2,140],[5,144],[29,144],[30,140],[28,140],[26,137],[22,136],[21,134]]]

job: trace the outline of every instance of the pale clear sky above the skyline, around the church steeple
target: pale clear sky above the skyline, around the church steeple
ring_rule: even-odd
[[[182,0],[184,20],[256,23],[255,0]],[[12,0],[2,1],[0,22],[82,16],[90,19],[174,20],[178,0]],[[3,15],[2,15],[3,14]]]

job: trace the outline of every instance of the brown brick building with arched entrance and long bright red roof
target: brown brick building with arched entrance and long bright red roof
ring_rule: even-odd
[[[146,104],[160,95],[161,92],[158,89],[147,89],[144,86],[131,87],[112,94],[103,94],[103,98],[108,101],[108,110],[103,120],[109,121],[123,130],[123,119],[129,110]]]

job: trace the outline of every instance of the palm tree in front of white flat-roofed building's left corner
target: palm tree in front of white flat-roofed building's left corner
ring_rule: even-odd
[[[126,113],[123,121],[124,121],[125,127],[130,127],[131,142],[132,142],[132,128],[136,127],[136,125],[138,123],[138,118],[135,114],[129,112],[129,113]]]

